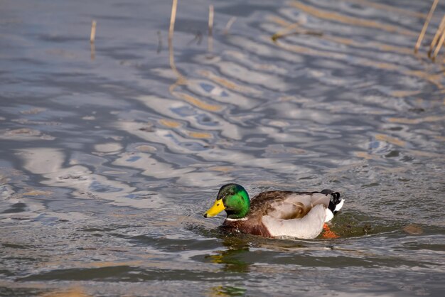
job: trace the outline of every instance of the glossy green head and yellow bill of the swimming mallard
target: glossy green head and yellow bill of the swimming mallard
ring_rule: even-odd
[[[215,204],[205,212],[204,217],[213,217],[225,210],[229,219],[242,219],[250,208],[249,195],[245,188],[236,183],[229,183],[220,188]]]

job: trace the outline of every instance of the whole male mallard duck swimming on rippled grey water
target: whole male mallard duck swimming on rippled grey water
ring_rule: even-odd
[[[343,202],[340,194],[331,190],[274,190],[259,193],[250,201],[245,188],[229,183],[220,188],[215,204],[204,217],[213,217],[225,210],[227,218],[223,227],[264,237],[315,238]]]

